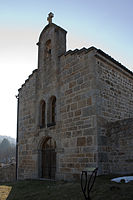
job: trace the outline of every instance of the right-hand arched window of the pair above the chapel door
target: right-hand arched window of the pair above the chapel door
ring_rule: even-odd
[[[56,123],[56,97],[52,96],[48,105],[48,127]]]

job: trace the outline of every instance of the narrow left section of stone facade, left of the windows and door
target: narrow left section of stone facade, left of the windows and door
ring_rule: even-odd
[[[27,178],[37,173],[32,152],[32,139],[36,131],[36,76],[36,71],[33,71],[19,91],[18,175],[24,174],[27,169]]]

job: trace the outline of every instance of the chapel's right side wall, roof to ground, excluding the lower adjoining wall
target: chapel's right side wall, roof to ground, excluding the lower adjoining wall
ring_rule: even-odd
[[[103,174],[110,172],[108,153],[111,151],[111,138],[106,134],[108,124],[133,117],[133,75],[119,63],[116,65],[116,62],[97,55],[96,80],[98,166],[99,173]],[[121,130],[121,127],[119,129]],[[126,135],[124,136],[127,139]]]

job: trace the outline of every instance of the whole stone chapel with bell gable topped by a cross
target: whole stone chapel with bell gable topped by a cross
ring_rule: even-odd
[[[52,17],[18,93],[17,178],[133,173],[133,73],[95,47],[66,51]]]

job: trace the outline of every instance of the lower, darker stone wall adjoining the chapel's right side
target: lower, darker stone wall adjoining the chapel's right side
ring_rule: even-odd
[[[133,173],[133,118],[108,124],[110,173]]]

